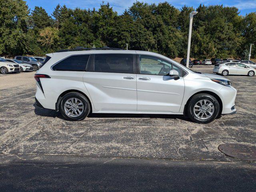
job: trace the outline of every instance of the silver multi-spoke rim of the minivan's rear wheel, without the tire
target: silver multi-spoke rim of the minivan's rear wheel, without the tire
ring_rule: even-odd
[[[84,112],[84,104],[78,98],[69,98],[64,104],[65,113],[70,117],[78,117]]]

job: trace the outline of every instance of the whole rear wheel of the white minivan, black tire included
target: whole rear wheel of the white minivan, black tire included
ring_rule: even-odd
[[[75,102],[75,100],[77,100],[77,102]],[[66,106],[65,106],[65,103],[66,103]],[[72,106],[72,104],[73,104],[73,106]],[[76,105],[76,106],[74,106],[74,105]],[[81,109],[82,106],[84,107],[83,109]],[[80,108],[78,108],[78,107],[80,107]],[[89,103],[88,99],[84,95],[77,93],[77,92],[70,92],[70,93],[64,95],[60,100],[59,109],[60,109],[62,116],[70,121],[83,120],[84,118],[86,118],[88,116],[88,114],[90,113],[90,110],[91,110],[90,103]],[[68,110],[71,111],[71,113],[68,112]],[[81,112],[81,114],[80,114],[80,112]]]

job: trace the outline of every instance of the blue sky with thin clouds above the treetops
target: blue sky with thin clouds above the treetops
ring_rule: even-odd
[[[147,2],[148,4],[159,2],[169,2],[176,8],[180,9],[182,6],[193,6],[197,8],[200,4],[208,5],[221,5],[235,6],[239,9],[240,15],[246,15],[250,12],[256,12],[256,0],[139,0]],[[46,12],[50,15],[57,4],[63,6],[64,4],[68,8],[85,8],[85,9],[98,9],[102,0],[26,0],[28,7],[34,10],[35,6],[42,6]],[[128,9],[136,0],[105,0],[105,3],[109,2],[118,14],[122,14],[125,9]]]

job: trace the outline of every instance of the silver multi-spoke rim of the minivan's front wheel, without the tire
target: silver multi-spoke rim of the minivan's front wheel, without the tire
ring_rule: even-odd
[[[208,119],[214,114],[214,104],[207,99],[200,100],[194,105],[194,114],[199,119]]]

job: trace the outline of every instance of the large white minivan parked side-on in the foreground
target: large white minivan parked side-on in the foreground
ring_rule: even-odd
[[[92,113],[184,114],[208,123],[236,112],[230,80],[163,55],[115,48],[47,54],[35,74],[36,104],[67,120]]]

